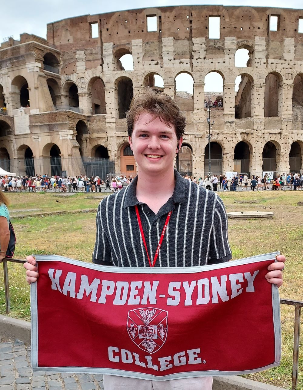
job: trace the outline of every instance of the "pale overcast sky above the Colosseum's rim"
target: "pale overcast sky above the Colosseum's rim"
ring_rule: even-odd
[[[281,8],[303,8],[302,0],[212,0],[203,2],[199,0],[121,0],[99,1],[96,0],[11,0],[5,1],[1,7],[0,22],[0,43],[9,37],[20,39],[20,34],[27,32],[46,38],[46,24],[53,21],[71,18],[73,16],[100,14],[105,12],[120,11],[123,9],[164,7],[170,5],[186,4],[203,5],[247,5],[254,7],[281,7]],[[219,91],[215,85],[212,90]],[[185,88],[183,88],[185,90]]]

